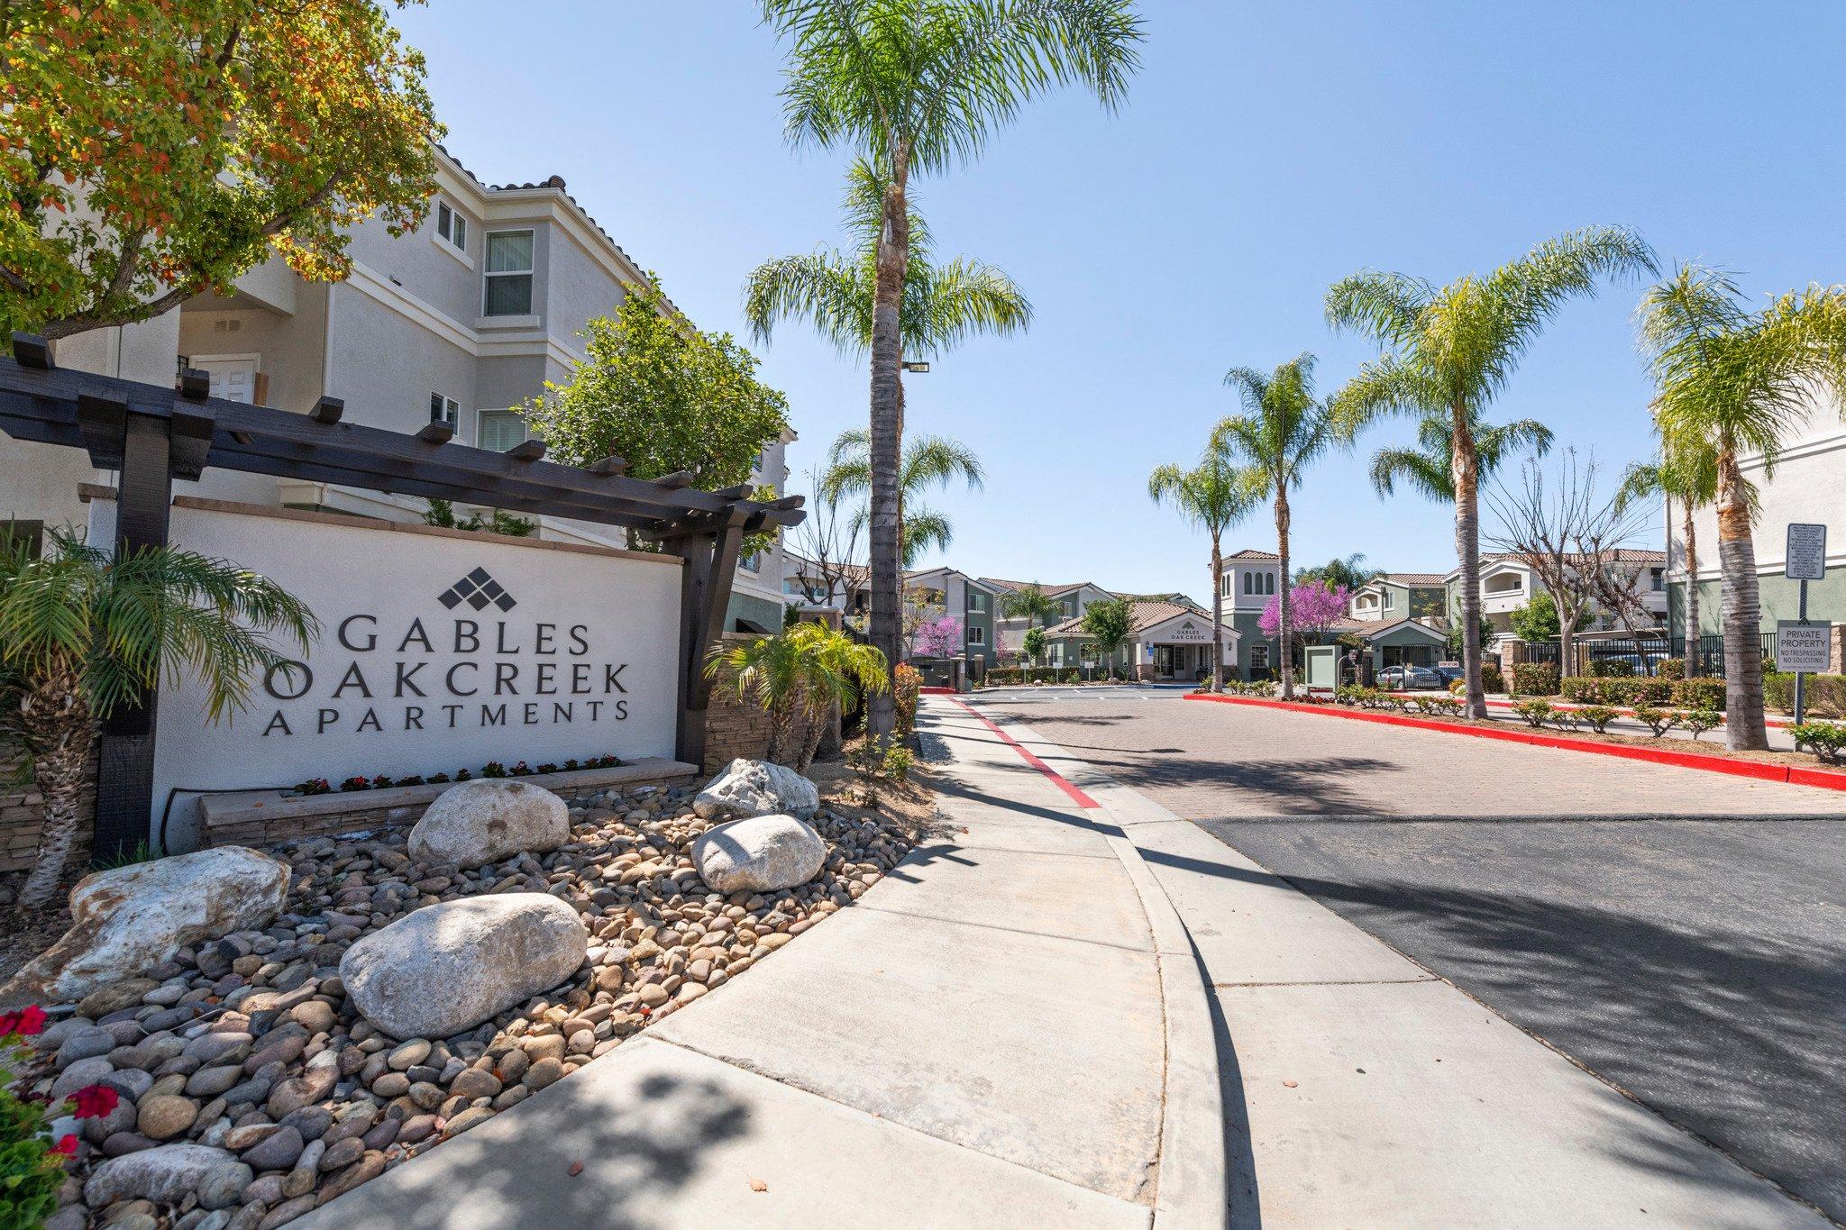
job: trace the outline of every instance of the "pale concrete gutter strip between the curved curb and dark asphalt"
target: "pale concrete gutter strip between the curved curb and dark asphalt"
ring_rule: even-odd
[[[1447,981],[1084,760],[1213,985],[1239,1226],[1826,1226]]]

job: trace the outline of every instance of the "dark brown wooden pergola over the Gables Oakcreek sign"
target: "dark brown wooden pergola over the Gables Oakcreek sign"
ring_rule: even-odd
[[[797,526],[801,496],[753,500],[748,483],[700,491],[689,472],[628,476],[622,457],[591,467],[545,461],[545,444],[508,452],[454,443],[454,428],[386,432],[345,422],[345,404],[323,396],[306,415],[209,395],[201,371],[174,387],[63,371],[42,337],[13,334],[0,358],[0,432],[13,439],[81,448],[90,465],[116,470],[116,542],[166,546],[174,479],[209,468],[271,474],[366,491],[450,500],[537,516],[633,529],[685,561],[679,601],[677,752],[703,762],[711,680],[703,664],[724,633],[744,535]],[[153,730],[159,697],[118,712],[103,730],[96,784],[96,857],[133,850],[153,802]]]

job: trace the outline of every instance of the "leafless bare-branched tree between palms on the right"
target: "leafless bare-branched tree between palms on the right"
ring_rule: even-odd
[[[1519,481],[1486,491],[1488,511],[1499,522],[1486,540],[1523,562],[1551,592],[1558,607],[1558,660],[1562,673],[1576,662],[1573,642],[1578,625],[1593,621],[1599,603],[1617,616],[1624,610],[1619,551],[1647,526],[1647,516],[1624,507],[1617,494],[1597,491],[1595,454],[1578,457],[1565,448],[1547,476],[1536,457],[1519,467]],[[1634,607],[1639,609],[1639,596]]]

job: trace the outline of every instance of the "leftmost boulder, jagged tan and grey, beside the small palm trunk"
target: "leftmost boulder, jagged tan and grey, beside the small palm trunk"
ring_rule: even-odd
[[[0,987],[0,1005],[81,999],[188,944],[266,928],[286,898],[288,865],[244,846],[100,870],[70,891],[70,929]]]

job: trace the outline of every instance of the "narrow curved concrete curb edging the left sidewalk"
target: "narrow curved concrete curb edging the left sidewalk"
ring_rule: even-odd
[[[1091,800],[1082,787],[1034,754],[1026,743],[1052,751],[1054,760],[1073,762],[1056,743],[1041,739],[1030,727],[1008,721],[1001,728],[986,714],[965,701],[960,708],[986,723],[1025,760],[1052,776],[1067,795],[1082,798],[1078,806],[1108,813],[1122,834],[1130,828],[1108,802]],[[1023,736],[1023,738],[1021,738]],[[1159,970],[1161,1022],[1165,1029],[1167,1070],[1161,1084],[1161,1145],[1159,1177],[1154,1197],[1154,1224],[1191,1230],[1213,1226],[1222,1230],[1229,1219],[1229,1173],[1224,1162],[1224,1094],[1218,1070],[1218,1044],[1211,1025],[1209,979],[1193,950],[1193,937],[1174,909],[1167,889],[1128,835],[1108,834],[1109,850],[1128,872],[1141,900],[1141,913],[1154,937]]]

